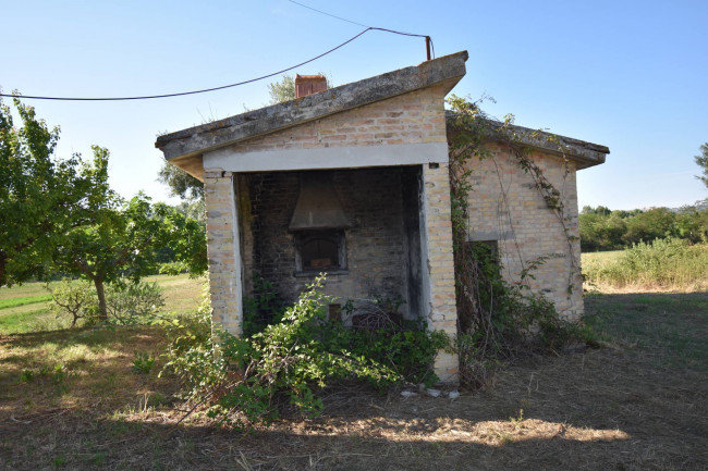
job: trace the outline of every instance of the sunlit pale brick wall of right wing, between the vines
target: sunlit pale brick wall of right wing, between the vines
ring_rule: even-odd
[[[503,276],[518,282],[528,262],[545,258],[528,278],[532,289],[551,299],[566,319],[577,320],[583,313],[583,281],[579,274],[579,233],[577,193],[572,161],[536,151],[532,160],[558,188],[565,204],[565,225],[572,241],[551,211],[534,179],[518,168],[510,149],[489,144],[492,157],[472,160],[473,190],[469,194],[469,234],[473,240],[496,240],[499,246]],[[577,271],[571,275],[572,264]],[[571,289],[569,290],[569,286]]]

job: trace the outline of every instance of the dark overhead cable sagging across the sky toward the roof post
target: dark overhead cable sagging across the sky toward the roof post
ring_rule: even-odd
[[[306,5],[303,5],[303,7],[306,7]],[[324,13],[324,12],[320,12],[320,13]],[[327,13],[325,13],[325,14],[327,14]],[[340,18],[340,20],[344,20],[344,18]],[[347,21],[347,20],[344,20],[344,21]],[[353,23],[353,22],[351,22],[351,23]],[[273,72],[273,73],[270,73],[270,74],[267,74],[267,75],[261,75],[260,77],[249,78],[249,79],[243,80],[243,82],[236,82],[235,84],[222,85],[220,87],[204,88],[204,89],[200,89],[200,90],[192,90],[192,91],[180,91],[180,92],[176,92],[176,94],[146,95],[146,96],[139,96],[139,97],[80,98],[80,97],[46,97],[46,96],[36,96],[36,95],[20,95],[20,96],[16,96],[16,98],[28,99],[28,100],[54,100],[54,101],[127,101],[127,100],[151,100],[151,99],[156,99],[156,98],[183,97],[183,96],[186,96],[186,95],[197,95],[197,94],[206,94],[208,91],[223,90],[225,88],[239,87],[241,85],[252,84],[254,82],[263,80],[265,78],[274,77],[276,75],[280,75],[280,74],[283,74],[285,72],[290,72],[293,69],[297,69],[297,67],[300,67],[302,65],[309,64],[310,62],[314,62],[314,61],[316,61],[318,59],[321,59],[325,55],[330,54],[330,53],[334,52],[335,50],[349,45],[353,40],[357,39],[358,37],[363,36],[364,34],[366,34],[366,33],[368,33],[370,30],[379,30],[379,32],[392,33],[392,34],[402,35],[402,36],[415,36],[415,37],[427,38],[429,40],[429,37],[425,36],[425,35],[415,35],[415,34],[412,34],[412,33],[396,32],[396,30],[393,30],[393,29],[367,26],[366,29],[364,29],[363,32],[361,32],[359,34],[357,34],[355,36],[352,36],[350,39],[345,40],[341,45],[335,46],[332,49],[330,49],[328,51],[325,51],[321,54],[315,55],[314,58],[308,59],[308,60],[306,60],[304,62],[301,62],[301,63],[295,64],[295,65],[291,65],[290,67],[283,69],[282,71]],[[0,92],[0,97],[15,97],[15,95]]]

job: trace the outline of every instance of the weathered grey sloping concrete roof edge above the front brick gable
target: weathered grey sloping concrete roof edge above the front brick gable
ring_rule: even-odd
[[[444,82],[451,87],[466,73],[467,51],[423,62],[363,80],[330,88],[296,100],[278,103],[212,123],[159,136],[155,147],[167,160],[198,156],[246,138],[318,120],[330,114]]]

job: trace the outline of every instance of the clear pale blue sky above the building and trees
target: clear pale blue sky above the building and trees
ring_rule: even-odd
[[[453,92],[493,116],[610,148],[578,172],[578,206],[681,207],[708,197],[695,178],[708,142],[708,2],[303,0],[369,26],[428,35],[436,55],[467,50]],[[286,69],[361,33],[288,0],[0,0],[3,92],[63,97],[170,94]],[[425,41],[368,32],[293,73],[334,85],[425,61]],[[266,79],[160,100],[26,100],[61,127],[58,154],[111,151],[111,185],[176,203],[156,181],[157,135],[268,103]],[[9,104],[10,100],[4,99]]]

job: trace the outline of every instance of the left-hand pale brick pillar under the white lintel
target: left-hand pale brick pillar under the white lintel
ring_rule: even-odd
[[[243,295],[234,175],[204,172],[211,324],[241,336]]]

